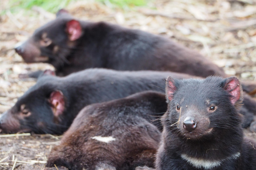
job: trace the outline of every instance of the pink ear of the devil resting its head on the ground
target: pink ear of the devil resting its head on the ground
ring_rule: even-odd
[[[50,96],[50,103],[52,104],[52,111],[55,117],[60,116],[65,109],[64,95],[61,91],[53,91]]]

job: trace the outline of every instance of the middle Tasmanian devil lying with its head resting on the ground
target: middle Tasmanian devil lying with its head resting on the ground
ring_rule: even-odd
[[[165,79],[169,75],[178,79],[191,78],[191,75],[173,72],[108,69],[87,69],[62,78],[43,76],[9,111],[2,114],[0,129],[7,133],[61,134],[84,106],[145,90],[164,92]],[[241,110],[246,117],[245,126],[252,122],[255,106],[248,96]]]

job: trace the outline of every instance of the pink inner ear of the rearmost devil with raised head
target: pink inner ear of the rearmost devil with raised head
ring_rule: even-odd
[[[67,33],[70,41],[75,41],[82,35],[81,24],[76,20],[70,20],[66,23]]]

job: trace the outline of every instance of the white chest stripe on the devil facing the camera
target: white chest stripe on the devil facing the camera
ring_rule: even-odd
[[[211,169],[216,166],[220,166],[222,162],[228,159],[237,159],[240,156],[240,152],[237,152],[234,155],[231,155],[227,157],[226,159],[221,159],[221,160],[205,160],[205,159],[198,159],[198,158],[193,158],[189,157],[186,154],[182,154],[181,158],[186,160],[188,163],[192,164],[196,168],[205,168],[205,169]]]

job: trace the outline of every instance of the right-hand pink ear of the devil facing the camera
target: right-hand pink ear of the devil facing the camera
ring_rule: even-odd
[[[233,105],[242,97],[240,82],[236,77],[230,77],[226,79],[224,89],[229,93],[230,101]]]

